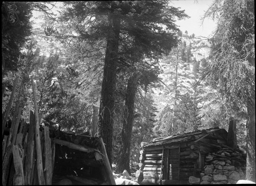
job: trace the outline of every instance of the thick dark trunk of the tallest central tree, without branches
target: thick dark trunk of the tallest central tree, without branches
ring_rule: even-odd
[[[113,111],[114,91],[120,33],[120,18],[115,14],[109,16],[109,35],[106,42],[106,53],[103,68],[101,100],[99,109],[99,137],[106,144],[110,165],[112,165]]]

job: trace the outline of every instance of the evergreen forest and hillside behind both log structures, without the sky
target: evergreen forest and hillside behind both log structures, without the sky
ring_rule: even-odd
[[[254,1],[214,0],[204,16],[211,38],[180,31],[189,16],[169,1],[3,2],[3,132],[17,104],[29,123],[34,93],[50,129],[90,135],[95,107],[94,135],[131,174],[141,142],[236,120],[255,181]]]

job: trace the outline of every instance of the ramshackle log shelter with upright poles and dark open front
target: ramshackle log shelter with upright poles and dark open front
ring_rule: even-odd
[[[35,113],[30,112],[29,124],[20,121],[22,101],[19,99],[11,124],[7,122],[18,78],[3,113],[2,184],[115,184],[102,138],[39,126],[41,114],[38,113],[33,78],[31,82]]]

